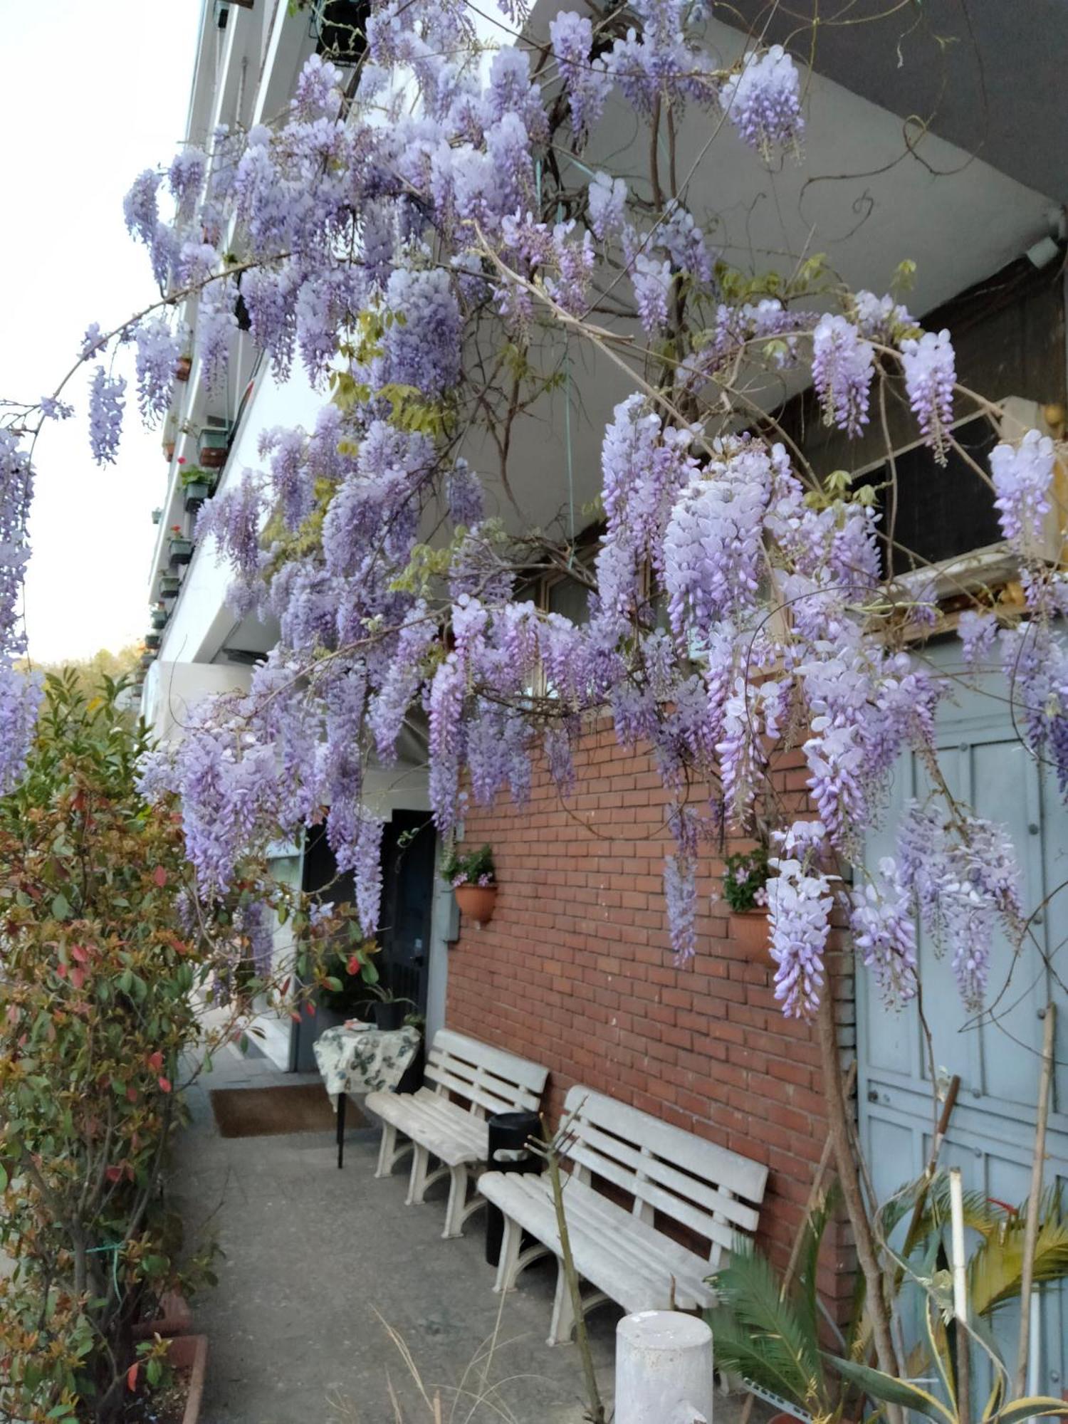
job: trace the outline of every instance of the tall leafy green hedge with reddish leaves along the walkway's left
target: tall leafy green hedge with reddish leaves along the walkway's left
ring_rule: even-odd
[[[201,901],[172,803],[148,805],[144,726],[117,705],[124,679],[87,693],[48,675],[26,776],[0,797],[0,1417],[112,1424],[134,1388],[165,1380],[134,1343],[165,1292],[209,1283],[169,1209],[164,1166],[185,1121],[182,1075],[238,1037],[235,988],[285,981],[253,967],[248,906],[290,923],[299,981],[363,943],[352,916],[313,913],[262,862]],[[263,923],[261,920],[261,923]],[[272,931],[273,933],[273,931]],[[229,1002],[206,1028],[197,995]],[[185,1079],[188,1082],[188,1077]]]

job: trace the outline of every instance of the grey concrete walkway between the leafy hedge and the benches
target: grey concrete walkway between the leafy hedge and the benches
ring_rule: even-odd
[[[218,1289],[192,1306],[211,1341],[202,1424],[429,1424],[387,1326],[430,1400],[441,1391],[444,1424],[580,1424],[578,1353],[545,1346],[550,1263],[527,1270],[501,1307],[481,1213],[463,1240],[441,1240],[447,1183],[424,1206],[404,1206],[407,1159],[376,1180],[373,1128],[349,1128],[342,1172],[332,1134],[219,1136],[211,1088],[302,1081],[228,1048],[189,1095],[172,1195],[187,1239],[214,1235],[225,1252]],[[605,1394],[619,1314],[602,1306],[590,1316]],[[716,1424],[733,1414],[721,1397]]]

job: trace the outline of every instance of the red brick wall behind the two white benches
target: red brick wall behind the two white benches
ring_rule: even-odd
[[[500,890],[491,923],[464,923],[450,950],[449,1027],[545,1064],[554,1122],[582,1082],[768,1163],[760,1237],[782,1267],[826,1141],[815,1032],[783,1020],[770,960],[729,937],[726,907],[711,904],[721,871],[711,856],[696,958],[672,963],[668,797],[652,759],[600,725],[575,769],[567,802],[537,766],[521,812],[501,797],[467,815],[464,843],[490,842]],[[803,789],[797,766],[776,779]],[[836,995],[847,1042],[852,978]],[[852,1257],[840,1232],[829,1246],[822,1287],[842,1300]]]

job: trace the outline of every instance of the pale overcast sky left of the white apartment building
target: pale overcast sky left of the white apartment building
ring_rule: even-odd
[[[181,144],[199,13],[201,0],[0,3],[0,396],[50,393],[90,322],[110,329],[158,295],[122,195]],[[98,468],[88,373],[67,390],[74,419],[37,443],[26,617],[44,662],[118,649],[148,628],[159,431],[141,429],[131,382],[118,463]]]

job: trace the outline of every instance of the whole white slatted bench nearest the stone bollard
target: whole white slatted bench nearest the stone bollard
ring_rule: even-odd
[[[582,1087],[567,1095],[557,1142],[571,1163],[562,1198],[575,1270],[595,1287],[582,1300],[582,1312],[602,1300],[627,1312],[713,1304],[715,1292],[705,1277],[721,1267],[739,1232],[756,1230],[768,1168]],[[618,1188],[634,1205],[619,1206],[592,1178]],[[548,1173],[486,1172],[478,1190],[504,1213],[494,1290],[511,1290],[524,1266],[554,1255],[557,1294],[548,1343],[568,1340],[575,1317]],[[679,1245],[664,1230],[669,1223],[708,1245],[701,1253]],[[535,1237],[525,1250],[520,1250],[523,1232]]]

